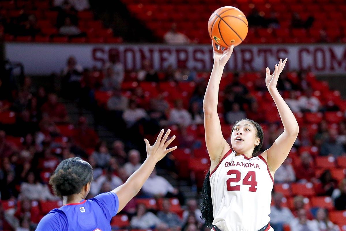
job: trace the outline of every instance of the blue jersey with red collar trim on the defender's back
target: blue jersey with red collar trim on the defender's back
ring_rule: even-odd
[[[102,193],[89,200],[66,204],[51,210],[38,223],[36,231],[106,231],[118,212],[117,194]]]

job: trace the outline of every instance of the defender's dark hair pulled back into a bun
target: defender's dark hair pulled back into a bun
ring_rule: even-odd
[[[59,197],[81,192],[84,185],[92,181],[90,163],[79,157],[63,160],[49,179],[54,194]]]

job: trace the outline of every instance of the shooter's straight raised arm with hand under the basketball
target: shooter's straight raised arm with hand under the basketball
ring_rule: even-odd
[[[224,152],[227,152],[230,149],[229,144],[224,139],[221,132],[220,119],[217,113],[217,104],[219,100],[219,85],[222,72],[224,71],[224,67],[229,60],[234,47],[232,45],[225,50],[221,50],[221,46],[216,48],[214,42],[212,42],[212,46],[214,52],[214,64],[206,94],[203,99],[204,131],[206,133],[206,144],[211,160],[211,167],[214,165],[216,166],[219,163],[222,154],[225,154]]]

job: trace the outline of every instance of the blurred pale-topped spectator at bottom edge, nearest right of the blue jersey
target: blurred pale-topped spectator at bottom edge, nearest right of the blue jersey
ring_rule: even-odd
[[[138,204],[137,215],[132,217],[130,225],[134,229],[153,229],[160,223],[161,220],[154,213],[147,212],[144,204]]]

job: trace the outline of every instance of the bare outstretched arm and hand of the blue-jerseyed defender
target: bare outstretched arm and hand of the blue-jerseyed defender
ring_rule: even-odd
[[[162,129],[160,134],[157,136],[156,142],[151,146],[147,139],[144,139],[147,150],[147,158],[140,166],[140,168],[135,171],[123,184],[112,190],[112,192],[116,193],[119,198],[119,208],[118,212],[120,212],[125,205],[137,195],[139,190],[142,188],[144,182],[148,179],[150,174],[155,168],[156,163],[161,160],[167,153],[175,150],[177,146],[173,148],[167,149],[168,145],[172,143],[175,139],[175,136],[166,142],[168,135],[171,130],[167,130],[165,136],[162,138],[164,130]],[[162,138],[162,140],[161,140]]]

